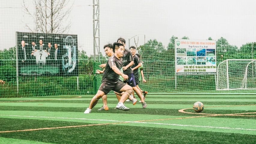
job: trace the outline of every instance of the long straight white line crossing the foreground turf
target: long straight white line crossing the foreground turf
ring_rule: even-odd
[[[17,115],[0,115],[0,116],[17,116]],[[81,120],[94,120],[94,121],[129,122],[129,123],[156,124],[156,125],[174,125],[174,126],[185,126],[185,127],[223,128],[223,129],[233,129],[233,130],[256,131],[256,129],[247,129],[247,128],[212,127],[212,126],[200,126],[200,125],[179,125],[179,124],[165,124],[165,123],[155,123],[155,122],[116,121],[116,120],[107,120],[107,119],[58,118],[58,117],[45,117],[45,116],[18,116],[18,117],[53,118],[53,119],[81,119]]]

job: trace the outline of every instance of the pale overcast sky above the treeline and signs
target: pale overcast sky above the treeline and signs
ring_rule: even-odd
[[[29,32],[22,22],[33,21],[23,12],[22,0],[0,2],[0,49],[15,46],[15,32]],[[34,10],[32,0],[26,2]],[[70,18],[69,34],[78,35],[80,50],[93,54],[92,0],[75,0]],[[120,36],[131,38],[137,34],[138,45],[157,39],[168,45],[172,35],[194,40],[227,39],[238,47],[256,41],[256,1],[232,0],[101,0],[100,44],[116,42]],[[13,7],[13,8],[7,8]],[[134,39],[131,40],[134,45]]]

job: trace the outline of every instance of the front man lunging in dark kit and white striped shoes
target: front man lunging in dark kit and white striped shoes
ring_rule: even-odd
[[[108,61],[105,69],[103,71],[97,70],[98,73],[103,72],[103,77],[101,81],[101,86],[97,94],[92,98],[89,107],[84,113],[91,113],[92,108],[97,104],[98,100],[102,98],[103,95],[107,95],[109,91],[124,91],[119,103],[116,105],[116,109],[128,111],[129,108],[124,106],[124,101],[131,95],[132,88],[129,85],[126,85],[123,82],[118,81],[119,75],[122,75],[126,80],[128,76],[121,73],[120,69],[122,68],[122,56],[124,54],[124,45],[120,43],[113,44],[114,55],[112,55]]]

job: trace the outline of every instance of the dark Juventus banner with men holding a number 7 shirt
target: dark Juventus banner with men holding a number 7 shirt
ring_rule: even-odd
[[[78,76],[77,35],[16,32],[18,76]]]

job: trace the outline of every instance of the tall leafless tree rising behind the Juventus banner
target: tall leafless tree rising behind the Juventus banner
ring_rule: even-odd
[[[31,17],[35,23],[34,30],[28,23],[25,24],[25,28],[31,32],[37,33],[66,33],[71,27],[71,20],[68,19],[68,16],[71,13],[73,4],[65,10],[68,5],[67,0],[35,0],[33,5],[36,10],[35,13],[32,13],[32,11],[26,7],[25,0],[23,0],[25,13]]]

